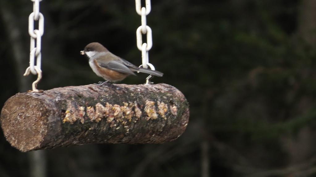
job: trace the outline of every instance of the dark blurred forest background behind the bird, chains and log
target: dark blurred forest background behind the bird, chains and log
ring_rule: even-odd
[[[144,1],[144,0],[143,0]],[[82,145],[21,153],[0,132],[1,177],[316,176],[316,1],[153,0],[155,83],[190,103],[185,133],[159,145]],[[31,89],[29,0],[0,1],[0,107]],[[43,0],[39,89],[97,83],[80,55],[99,42],[141,64],[135,1]],[[147,75],[120,83],[143,84]],[[39,168],[40,167],[40,168]]]

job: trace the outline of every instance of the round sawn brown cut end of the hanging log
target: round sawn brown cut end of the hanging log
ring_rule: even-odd
[[[1,126],[6,127],[3,134],[11,139],[11,146],[24,152],[39,147],[48,126],[48,111],[43,103],[31,96],[11,97],[7,103],[1,112]]]

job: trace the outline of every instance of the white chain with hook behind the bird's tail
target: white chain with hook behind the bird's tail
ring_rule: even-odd
[[[148,55],[148,51],[153,46],[152,31],[151,31],[151,28],[147,26],[147,22],[146,22],[146,15],[148,15],[151,10],[150,0],[145,1],[146,7],[141,7],[141,0],[135,0],[135,4],[136,4],[137,14],[141,15],[142,17],[142,26],[139,26],[136,30],[137,48],[140,51],[142,51],[142,65],[139,67],[148,68],[149,66],[150,69],[155,70],[154,65],[149,63],[149,55]],[[147,33],[146,35],[147,43],[143,43],[142,34],[146,34],[146,33]],[[150,79],[152,77],[153,76],[150,75],[149,77],[146,78],[146,84],[150,83]]]

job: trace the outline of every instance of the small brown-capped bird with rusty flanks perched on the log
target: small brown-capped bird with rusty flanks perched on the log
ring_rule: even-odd
[[[135,75],[134,71],[152,74],[161,77],[160,71],[137,67],[130,62],[112,54],[100,43],[89,43],[84,50],[80,51],[89,59],[89,65],[94,73],[103,77],[106,82],[117,82],[129,75]],[[103,83],[102,83],[103,84]]]

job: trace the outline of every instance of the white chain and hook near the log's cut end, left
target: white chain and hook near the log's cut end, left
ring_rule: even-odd
[[[30,73],[37,75],[37,80],[32,84],[32,92],[42,92],[42,90],[37,89],[37,83],[40,82],[42,78],[41,68],[41,37],[44,33],[44,16],[40,13],[40,1],[42,0],[31,0],[33,2],[33,12],[28,17],[28,33],[31,36],[30,44],[30,66],[27,67],[24,76]],[[39,21],[39,29],[34,30],[34,21]],[[36,40],[35,40],[36,39]],[[34,65],[36,57],[36,65]]]

